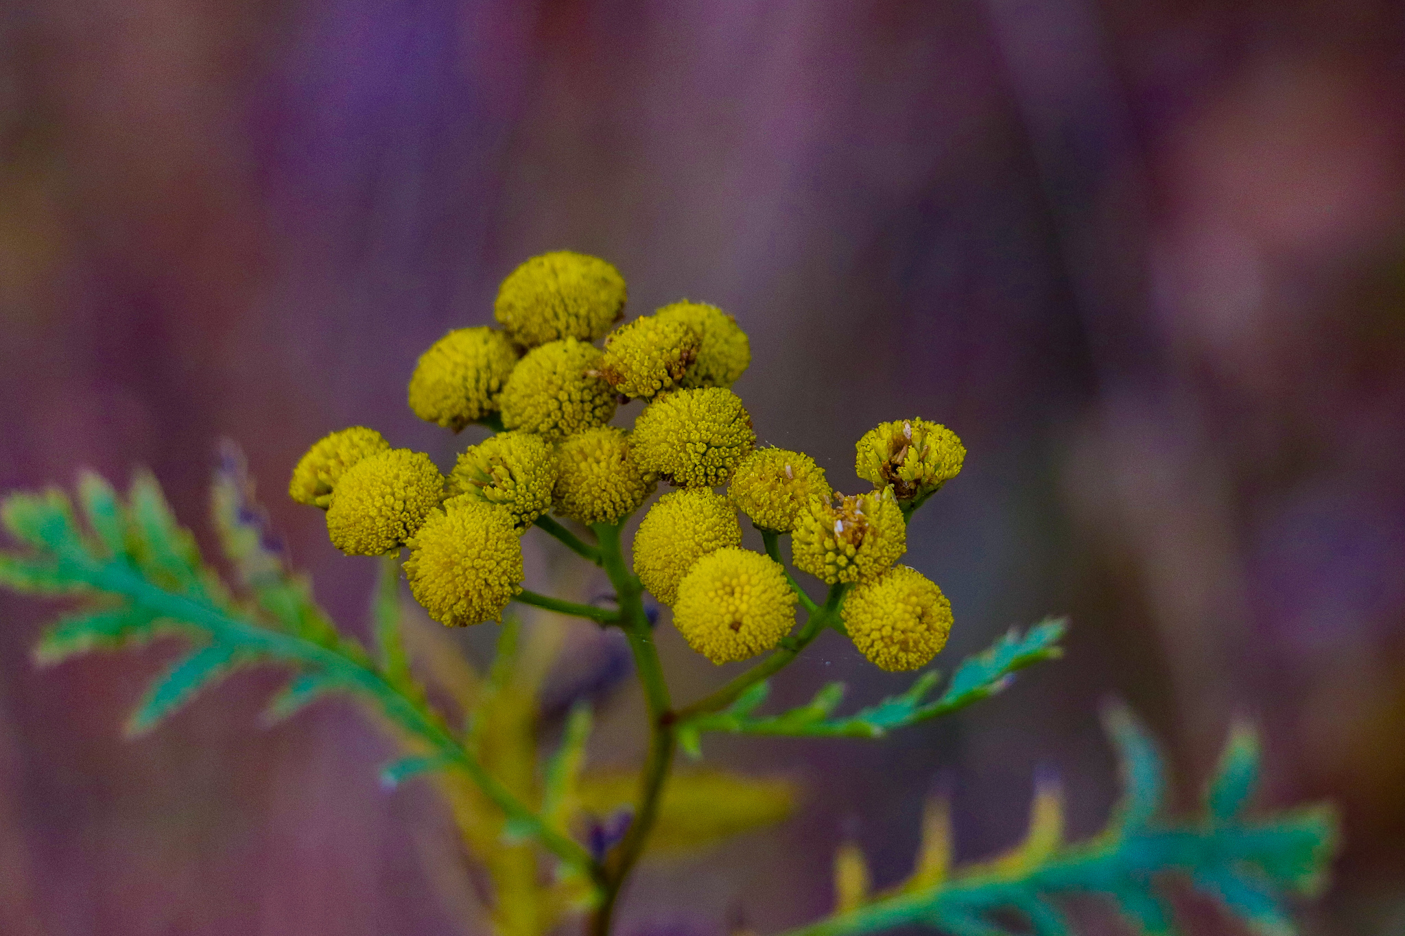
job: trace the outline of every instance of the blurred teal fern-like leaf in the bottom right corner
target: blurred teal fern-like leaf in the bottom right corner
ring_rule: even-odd
[[[1107,895],[1138,932],[1161,936],[1173,932],[1172,915],[1158,891],[1169,874],[1218,897],[1255,932],[1291,936],[1288,900],[1311,894],[1321,884],[1336,842],[1333,814],[1311,808],[1245,818],[1235,810],[1217,821],[1169,820],[1161,810],[1165,779],[1151,737],[1124,709],[1111,710],[1107,726],[1130,786],[1100,835],[1064,845],[1057,797],[1045,783],[1031,810],[1030,834],[1010,855],[958,867],[930,885],[913,887],[909,881],[785,936],[853,936],[908,925],[927,925],[953,936],[1009,936],[1005,921],[1010,914],[1023,916],[1038,936],[1064,936],[1071,930],[1059,904],[1080,894]],[[1235,777],[1252,777],[1257,773],[1257,741],[1241,727],[1222,763],[1231,765],[1228,773]],[[1221,777],[1225,775],[1221,768]],[[1252,782],[1236,780],[1236,803],[1242,804],[1249,787]]]

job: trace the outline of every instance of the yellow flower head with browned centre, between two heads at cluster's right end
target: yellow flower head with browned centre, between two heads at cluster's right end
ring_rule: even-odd
[[[795,568],[830,585],[877,578],[906,551],[908,525],[892,488],[837,502],[813,497],[791,535]]]

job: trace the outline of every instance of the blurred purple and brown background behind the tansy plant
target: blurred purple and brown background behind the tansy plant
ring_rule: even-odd
[[[714,741],[805,783],[805,808],[646,871],[624,932],[802,922],[843,838],[892,881],[934,784],[964,856],[1019,836],[1038,769],[1093,831],[1118,696],[1187,803],[1256,718],[1263,803],[1346,820],[1305,926],[1398,933],[1402,56],[1384,0],[11,0],[0,488],[146,464],[208,542],[233,438],[361,627],[374,564],[284,497],[294,460],[370,424],[448,466],[465,438],[405,406],[416,356],[489,323],[523,258],[594,253],[634,313],[735,314],[762,438],[836,487],[881,420],[961,434],[908,560],[955,606],[948,668],[1073,619],[1066,660],[884,745]],[[377,784],[389,748],[350,706],[260,730],[277,681],[242,675],[128,742],[174,647],[37,672],[51,613],[0,596],[0,932],[482,932],[443,808]],[[905,685],[829,637],[781,696]],[[680,685],[725,675],[660,641]],[[624,724],[638,700],[610,706]],[[614,730],[592,756],[641,744]]]

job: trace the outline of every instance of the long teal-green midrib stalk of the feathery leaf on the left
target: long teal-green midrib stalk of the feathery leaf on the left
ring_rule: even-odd
[[[603,885],[603,871],[590,855],[573,839],[552,829],[521,800],[492,776],[464,744],[445,728],[423,703],[400,693],[374,668],[367,667],[332,647],[270,630],[237,617],[230,617],[202,601],[174,595],[152,585],[125,563],[96,563],[83,550],[59,550],[62,560],[86,573],[89,582],[108,592],[126,595],[136,605],[205,630],[215,643],[237,644],[250,655],[270,660],[296,661],[320,669],[346,689],[368,696],[381,711],[405,731],[422,738],[447,763],[462,769],[473,783],[500,808],[514,827],[532,836],[568,864],[583,869]]]

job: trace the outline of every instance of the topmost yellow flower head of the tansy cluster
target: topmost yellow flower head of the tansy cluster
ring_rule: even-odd
[[[620,271],[569,250],[532,257],[497,290],[493,314],[513,340],[535,348],[559,338],[594,341],[624,317]]]

